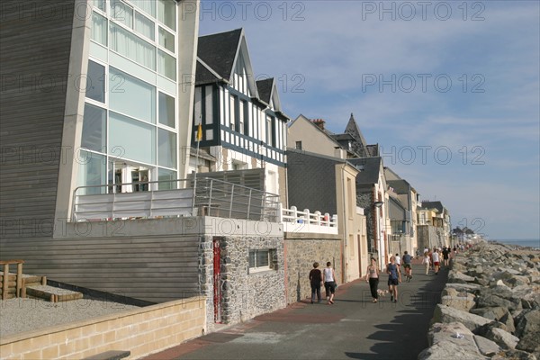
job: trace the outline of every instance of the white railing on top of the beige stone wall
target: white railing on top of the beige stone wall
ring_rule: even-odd
[[[328,212],[311,212],[309,209],[298,211],[296,206],[291,209],[282,208],[280,222],[284,224],[285,232],[313,232],[319,234],[338,234],[338,215]]]

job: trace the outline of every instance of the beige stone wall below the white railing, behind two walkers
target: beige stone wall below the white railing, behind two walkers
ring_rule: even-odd
[[[305,235],[294,238],[293,235]],[[316,238],[317,237],[317,238]],[[338,284],[342,284],[341,240],[338,237],[285,233],[287,304],[311,298],[310,271],[318,262],[322,271],[330,261],[336,269]],[[322,296],[324,297],[324,291]]]

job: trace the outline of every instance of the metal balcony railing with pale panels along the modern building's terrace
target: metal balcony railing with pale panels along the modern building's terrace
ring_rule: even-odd
[[[121,189],[149,189],[121,193]],[[73,193],[73,221],[214,216],[279,220],[279,196],[211,178],[79,186]]]

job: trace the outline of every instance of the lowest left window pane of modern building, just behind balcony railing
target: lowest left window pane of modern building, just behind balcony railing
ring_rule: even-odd
[[[77,157],[79,163],[78,170],[78,185],[90,186],[105,184],[105,161],[104,156],[94,154],[88,151],[80,151]],[[87,189],[81,189],[77,191],[79,195],[105,193],[106,186],[103,187],[90,187]]]

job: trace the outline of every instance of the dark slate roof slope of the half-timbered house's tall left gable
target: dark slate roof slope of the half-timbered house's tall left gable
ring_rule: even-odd
[[[236,29],[200,36],[197,44],[197,57],[201,58],[222,78],[229,80],[241,35],[242,29]],[[202,71],[201,74],[199,70]],[[199,76],[205,77],[208,74],[204,74],[202,67],[197,64],[195,78]]]

